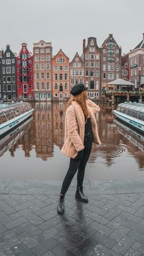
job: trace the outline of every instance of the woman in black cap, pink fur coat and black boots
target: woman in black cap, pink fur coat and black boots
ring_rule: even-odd
[[[65,115],[65,142],[61,150],[63,154],[70,157],[70,166],[60,191],[58,214],[64,213],[65,194],[76,172],[77,189],[75,196],[82,202],[88,202],[82,186],[85,166],[92,150],[92,142],[101,145],[101,141],[94,115],[100,109],[93,101],[87,100],[87,92],[85,91],[87,89],[84,84],[76,84],[70,92],[73,97],[68,101]]]

